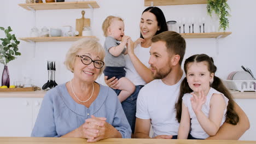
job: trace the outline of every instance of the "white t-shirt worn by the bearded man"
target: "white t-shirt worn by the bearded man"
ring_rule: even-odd
[[[179,96],[179,87],[185,77],[175,85],[165,85],[162,80],[153,80],[139,91],[136,117],[151,119],[154,131],[158,135],[178,135],[179,123],[176,119],[175,104]]]

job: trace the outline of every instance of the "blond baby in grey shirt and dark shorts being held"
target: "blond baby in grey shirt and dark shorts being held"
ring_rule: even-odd
[[[119,79],[121,92],[118,99],[122,102],[135,91],[135,85],[125,78],[125,60],[123,56],[127,54],[125,45],[131,38],[124,35],[124,21],[120,17],[108,16],[102,24],[102,30],[106,37],[104,43],[106,68],[103,73],[108,76],[108,79],[114,76]]]

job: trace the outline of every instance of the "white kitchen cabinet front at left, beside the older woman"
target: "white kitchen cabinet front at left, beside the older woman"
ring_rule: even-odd
[[[43,98],[0,98],[0,136],[30,136]]]

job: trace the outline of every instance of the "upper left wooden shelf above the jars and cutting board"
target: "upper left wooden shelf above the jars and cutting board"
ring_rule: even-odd
[[[88,9],[100,8],[96,1],[86,2],[55,2],[55,3],[22,3],[20,7],[27,10],[46,10],[46,9]]]

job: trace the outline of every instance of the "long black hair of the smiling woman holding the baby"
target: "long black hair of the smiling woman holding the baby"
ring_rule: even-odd
[[[166,23],[166,20],[165,20],[165,15],[164,15],[164,13],[162,13],[161,9],[159,9],[158,7],[148,7],[147,9],[145,9],[143,11],[143,13],[146,12],[146,11],[149,11],[150,13],[154,14],[155,17],[156,17],[156,20],[158,21],[158,26],[160,27],[160,30],[156,31],[155,35],[159,34],[161,32],[168,31],[167,23]],[[143,38],[142,34],[141,34],[141,38]]]

